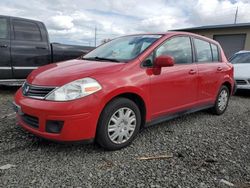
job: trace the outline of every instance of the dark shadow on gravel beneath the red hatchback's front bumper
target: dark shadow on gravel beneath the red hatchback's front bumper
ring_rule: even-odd
[[[9,137],[10,140],[5,140],[5,144],[13,145],[14,147],[8,147],[0,149],[2,155],[13,155],[23,150],[29,152],[43,151],[53,155],[54,153],[71,153],[76,151],[86,153],[103,153],[105,150],[96,143],[84,143],[84,142],[56,142],[52,140],[46,140],[35,136],[18,125],[9,127],[5,131],[2,131],[5,135],[3,137]]]

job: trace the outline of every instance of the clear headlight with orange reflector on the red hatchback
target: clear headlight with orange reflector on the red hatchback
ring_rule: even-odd
[[[83,78],[55,89],[45,99],[52,101],[69,101],[85,97],[101,89],[101,85],[95,79]]]

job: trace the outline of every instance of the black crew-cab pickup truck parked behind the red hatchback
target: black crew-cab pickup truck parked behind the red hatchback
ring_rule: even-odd
[[[93,47],[50,43],[40,21],[0,16],[0,85],[21,84],[43,65],[77,58]]]

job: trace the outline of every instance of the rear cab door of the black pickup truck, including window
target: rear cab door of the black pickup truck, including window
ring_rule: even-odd
[[[26,78],[39,66],[50,61],[50,47],[43,39],[39,23],[12,18],[11,56],[14,78]]]

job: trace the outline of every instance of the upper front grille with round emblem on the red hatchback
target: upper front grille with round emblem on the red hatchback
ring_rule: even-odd
[[[22,86],[23,95],[31,98],[44,99],[55,87],[34,86],[24,83]]]

